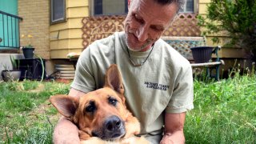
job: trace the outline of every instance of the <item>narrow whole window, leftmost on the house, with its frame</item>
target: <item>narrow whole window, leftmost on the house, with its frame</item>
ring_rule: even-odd
[[[50,8],[50,23],[65,21],[65,0],[50,0]]]

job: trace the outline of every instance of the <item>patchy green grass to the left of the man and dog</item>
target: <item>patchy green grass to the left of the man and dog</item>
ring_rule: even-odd
[[[70,84],[0,82],[0,143],[52,143],[59,115],[48,98],[68,94]]]

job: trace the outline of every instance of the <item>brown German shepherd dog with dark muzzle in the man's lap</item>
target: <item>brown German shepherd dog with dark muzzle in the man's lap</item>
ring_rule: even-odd
[[[83,95],[79,100],[56,95],[50,102],[60,114],[79,129],[82,143],[149,143],[138,138],[140,124],[126,109],[124,88],[118,66],[106,71],[105,86]]]

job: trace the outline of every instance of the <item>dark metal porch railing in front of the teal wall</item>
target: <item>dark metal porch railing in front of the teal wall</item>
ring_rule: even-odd
[[[0,10],[0,50],[20,47],[20,20],[21,17]]]

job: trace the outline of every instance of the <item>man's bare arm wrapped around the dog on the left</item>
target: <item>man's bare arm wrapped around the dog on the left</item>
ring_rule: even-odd
[[[80,98],[83,94],[82,91],[75,90],[73,88],[70,89],[69,95],[72,97]],[[54,143],[55,144],[76,144],[80,143],[80,139],[78,137],[78,127],[74,125],[74,123],[67,120],[65,117],[60,118],[57,126],[54,129]]]

